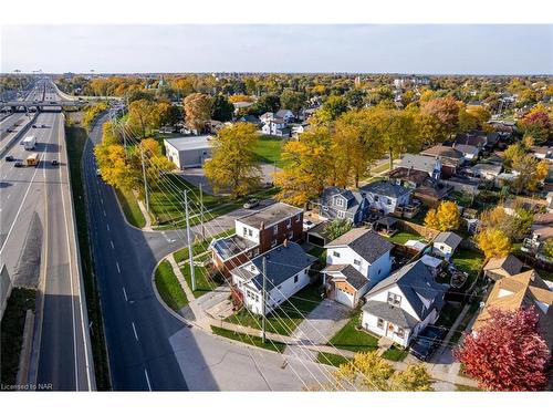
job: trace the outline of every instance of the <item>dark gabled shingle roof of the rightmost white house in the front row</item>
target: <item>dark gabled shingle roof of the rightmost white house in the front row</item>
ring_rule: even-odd
[[[435,282],[432,274],[421,260],[409,263],[382,280],[367,293],[366,298],[369,299],[375,293],[394,284],[397,284],[401,290],[420,321],[426,319],[434,307],[440,309],[442,305],[446,289]],[[434,300],[432,307],[425,308],[421,298],[427,301]]]

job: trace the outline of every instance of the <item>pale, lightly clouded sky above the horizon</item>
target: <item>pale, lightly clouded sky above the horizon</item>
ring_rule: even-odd
[[[2,25],[0,71],[552,74],[553,25]]]

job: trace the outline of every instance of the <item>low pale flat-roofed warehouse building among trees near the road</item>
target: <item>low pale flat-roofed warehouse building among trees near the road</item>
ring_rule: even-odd
[[[211,156],[210,135],[164,139],[165,154],[178,168],[201,167]]]

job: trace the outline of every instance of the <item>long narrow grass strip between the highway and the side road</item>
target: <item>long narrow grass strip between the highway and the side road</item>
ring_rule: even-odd
[[[66,126],[65,136],[71,188],[73,193],[73,204],[75,206],[79,249],[81,251],[81,264],[86,294],[86,309],[88,311],[88,320],[94,326],[94,330],[91,330],[91,343],[94,357],[96,386],[98,391],[108,391],[111,382],[107,365],[107,352],[104,340],[104,323],[102,320],[102,310],[100,305],[96,278],[94,274],[94,266],[92,262],[91,247],[88,245],[88,227],[86,225],[84,186],[81,169],[81,160],[83,158],[83,151],[87,139],[87,134],[81,126]]]

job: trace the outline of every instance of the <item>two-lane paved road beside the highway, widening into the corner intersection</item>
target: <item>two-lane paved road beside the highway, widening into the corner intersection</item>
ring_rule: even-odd
[[[98,125],[92,141],[100,135]],[[127,226],[113,189],[96,177],[91,142],[83,168],[114,390],[299,391],[328,380],[327,367],[207,334],[169,313],[150,279],[163,257],[186,246],[184,232]]]

